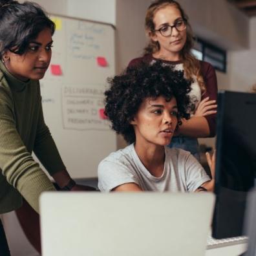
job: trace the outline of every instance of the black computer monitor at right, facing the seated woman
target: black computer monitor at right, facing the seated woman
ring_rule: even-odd
[[[216,239],[243,234],[246,197],[255,183],[255,116],[256,94],[219,92],[212,233]]]

